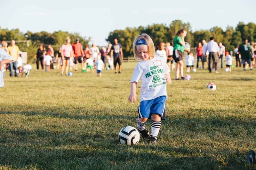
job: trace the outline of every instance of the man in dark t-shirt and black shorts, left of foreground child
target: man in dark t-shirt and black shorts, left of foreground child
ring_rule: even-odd
[[[110,56],[114,57],[114,67],[115,67],[115,73],[117,73],[117,63],[118,63],[118,73],[121,73],[122,68],[122,60],[123,60],[123,50],[122,45],[118,43],[117,38],[114,39],[114,45],[111,47]]]

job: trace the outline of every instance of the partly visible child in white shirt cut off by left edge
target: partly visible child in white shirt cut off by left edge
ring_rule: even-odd
[[[4,64],[12,63],[14,59],[3,48],[0,48],[0,87],[4,87]]]

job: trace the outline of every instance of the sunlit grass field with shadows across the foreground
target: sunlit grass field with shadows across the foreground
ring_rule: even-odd
[[[4,79],[0,88],[0,169],[255,169],[256,69],[219,74],[197,69],[191,80],[167,85],[166,120],[157,144],[118,141],[136,127],[137,101],[128,102],[136,62],[122,74],[36,70]],[[185,70],[185,68],[184,68]],[[184,72],[186,74],[186,72]],[[216,91],[206,89],[214,82]],[[151,131],[151,121],[146,123]]]

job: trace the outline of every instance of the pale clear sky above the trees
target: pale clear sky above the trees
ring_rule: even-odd
[[[107,46],[111,31],[174,20],[192,31],[214,26],[223,31],[239,22],[256,23],[256,0],[0,0],[1,29],[32,33],[67,31]],[[63,42],[64,43],[64,42]]]

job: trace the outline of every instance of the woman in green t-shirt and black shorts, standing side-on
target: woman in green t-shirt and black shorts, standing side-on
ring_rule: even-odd
[[[179,75],[181,76],[181,80],[184,80],[182,53],[184,52],[184,46],[185,46],[184,37],[186,35],[187,35],[187,31],[185,29],[181,29],[176,33],[173,39],[173,58],[174,58],[174,61],[177,63],[175,80],[179,80]]]

